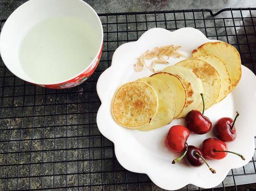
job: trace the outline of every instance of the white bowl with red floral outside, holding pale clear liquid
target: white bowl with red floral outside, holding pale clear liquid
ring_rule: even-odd
[[[3,25],[0,54],[17,77],[72,88],[96,69],[103,47],[97,13],[82,0],[29,0]]]

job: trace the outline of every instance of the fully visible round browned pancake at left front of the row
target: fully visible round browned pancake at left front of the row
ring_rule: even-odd
[[[157,110],[156,91],[142,81],[121,86],[114,95],[111,106],[114,120],[127,128],[138,128],[148,124]]]

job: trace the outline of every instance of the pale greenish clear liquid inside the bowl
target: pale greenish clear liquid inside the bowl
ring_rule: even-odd
[[[32,81],[55,84],[82,72],[96,56],[99,41],[93,29],[79,19],[46,19],[23,39],[20,63]]]

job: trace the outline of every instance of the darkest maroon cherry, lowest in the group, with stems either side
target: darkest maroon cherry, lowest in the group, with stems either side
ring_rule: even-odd
[[[186,162],[190,166],[201,166],[203,163],[205,163],[207,165],[207,167],[211,170],[212,173],[216,173],[216,171],[208,165],[208,163],[206,162],[206,160],[203,157],[202,151],[198,147],[195,147],[193,145],[188,146],[188,144],[187,144],[185,152],[181,155],[181,157],[178,157],[177,159],[173,160],[172,164],[177,163],[184,156],[185,156]]]

